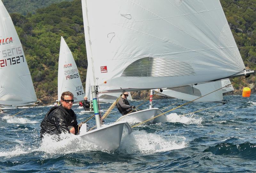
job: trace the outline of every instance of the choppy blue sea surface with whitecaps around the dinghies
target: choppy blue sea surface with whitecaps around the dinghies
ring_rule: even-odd
[[[132,128],[117,151],[99,151],[86,141],[39,138],[40,123],[51,108],[4,109],[0,117],[0,172],[256,172],[256,95],[224,96],[227,104],[189,103],[168,113],[164,123]],[[144,101],[130,102],[139,106]],[[186,101],[154,100],[167,111]],[[100,104],[107,110],[111,103]],[[78,123],[90,115],[79,114]],[[147,109],[148,101],[139,109]],[[116,108],[105,123],[120,117]],[[95,125],[94,118],[88,126]]]

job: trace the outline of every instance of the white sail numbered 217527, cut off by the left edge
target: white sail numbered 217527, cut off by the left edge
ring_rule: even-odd
[[[12,19],[0,0],[0,105],[37,102],[28,64]]]

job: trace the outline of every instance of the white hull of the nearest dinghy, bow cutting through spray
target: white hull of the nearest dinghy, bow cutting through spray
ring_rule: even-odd
[[[85,132],[79,135],[83,140],[90,141],[97,145],[100,150],[115,151],[121,142],[124,126],[131,133],[131,127],[125,122],[117,122],[113,124],[103,125],[99,129]],[[80,132],[83,133],[83,132]]]

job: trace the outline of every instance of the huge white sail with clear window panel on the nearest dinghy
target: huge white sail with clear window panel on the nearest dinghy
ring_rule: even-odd
[[[91,83],[101,90],[186,86],[245,69],[219,1],[82,0],[82,6]]]

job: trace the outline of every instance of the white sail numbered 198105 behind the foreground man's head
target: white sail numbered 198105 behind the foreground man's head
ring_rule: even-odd
[[[64,38],[60,41],[60,56],[58,68],[58,100],[61,93],[70,91],[74,94],[74,101],[84,100],[84,88],[73,55]]]

